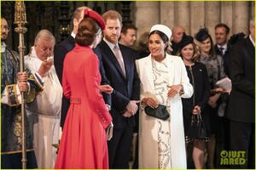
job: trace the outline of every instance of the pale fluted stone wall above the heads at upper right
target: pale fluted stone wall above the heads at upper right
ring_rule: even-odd
[[[154,24],[164,24],[171,29],[183,26],[186,33],[194,36],[201,27],[207,27],[214,36],[218,23],[230,26],[230,36],[243,31],[248,34],[248,23],[255,11],[254,1],[233,2],[134,2],[133,22],[137,37],[149,31]],[[214,40],[214,37],[213,37]]]

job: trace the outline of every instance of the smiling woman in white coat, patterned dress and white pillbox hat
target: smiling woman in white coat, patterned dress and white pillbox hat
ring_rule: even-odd
[[[149,34],[148,57],[137,60],[141,80],[139,168],[186,168],[181,98],[190,98],[193,87],[180,57],[166,54],[172,31],[155,25]],[[166,105],[166,121],[146,115],[145,106]]]

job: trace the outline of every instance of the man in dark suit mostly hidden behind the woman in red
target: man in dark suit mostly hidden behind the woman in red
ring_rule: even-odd
[[[62,83],[62,71],[63,71],[63,61],[65,59],[65,56],[68,52],[70,52],[75,47],[75,36],[79,29],[79,23],[81,20],[84,19],[84,9],[87,7],[79,7],[77,8],[73,13],[73,31],[70,36],[67,37],[66,40],[63,42],[55,45],[54,49],[54,65],[55,65],[55,71],[57,73],[57,76]],[[90,8],[89,8],[90,9]],[[94,53],[98,56],[100,60],[100,72],[102,75],[102,82],[101,82],[101,91],[105,92],[102,93],[104,101],[106,103],[106,106],[108,107],[108,111],[110,110],[111,105],[111,93],[113,91],[113,88],[111,88],[108,84],[108,79],[105,77],[105,71],[102,66],[102,55],[99,50],[99,48],[93,48]],[[62,97],[62,105],[61,105],[61,127],[64,126],[64,122],[67,116],[67,111],[70,105],[69,99],[65,98],[63,95]]]

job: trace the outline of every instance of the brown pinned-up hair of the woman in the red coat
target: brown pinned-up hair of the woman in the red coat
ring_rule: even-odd
[[[79,23],[79,30],[75,37],[75,42],[78,43],[79,46],[90,46],[101,30],[96,20],[90,17],[85,18]]]

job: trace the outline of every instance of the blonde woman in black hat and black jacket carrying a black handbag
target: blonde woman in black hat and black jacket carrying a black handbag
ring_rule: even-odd
[[[183,125],[186,139],[186,148],[189,142],[193,142],[193,161],[195,168],[205,168],[204,158],[206,142],[210,137],[210,119],[207,111],[207,101],[210,97],[210,84],[208,80],[207,67],[196,60],[199,58],[198,49],[195,45],[194,38],[183,35],[180,42],[180,49],[177,55],[183,58],[183,62],[188,72],[189,82],[193,85],[194,94],[189,99],[183,101]],[[201,113],[202,120],[207,127],[207,138],[205,139],[190,139],[189,127],[191,116]]]

